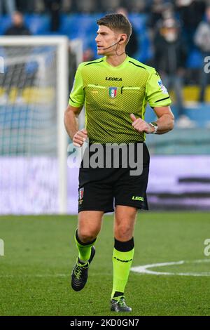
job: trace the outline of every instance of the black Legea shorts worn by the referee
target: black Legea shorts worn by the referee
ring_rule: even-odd
[[[137,160],[137,143],[135,159]],[[113,212],[113,205],[133,206],[148,210],[146,188],[150,155],[145,143],[143,146],[143,171],[141,175],[130,175],[130,166],[123,168],[84,168],[80,165],[78,187],[78,212],[104,211]],[[91,155],[91,154],[90,154]],[[122,161],[122,159],[121,159]]]

